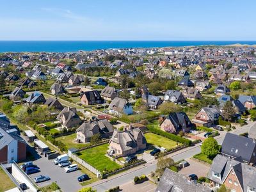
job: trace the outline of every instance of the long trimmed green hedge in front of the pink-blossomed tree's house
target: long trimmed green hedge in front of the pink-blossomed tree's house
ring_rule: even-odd
[[[191,144],[192,144],[192,141],[190,141],[186,138],[181,138],[180,136],[177,136],[177,135],[172,134],[170,132],[162,131],[160,129],[156,129],[154,127],[148,127],[148,131],[150,131],[154,134],[158,134],[160,136],[163,136],[164,138],[168,138],[170,140],[177,141],[179,143],[182,143],[182,144],[185,144],[185,145],[188,145],[188,146],[191,146]]]

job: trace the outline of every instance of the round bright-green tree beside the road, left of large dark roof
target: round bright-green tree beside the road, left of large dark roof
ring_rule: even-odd
[[[213,159],[219,152],[220,147],[214,138],[207,138],[201,146],[202,153]]]

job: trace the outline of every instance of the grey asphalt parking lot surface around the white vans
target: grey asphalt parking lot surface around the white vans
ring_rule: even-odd
[[[48,160],[46,157],[41,157],[33,161],[40,168],[40,172],[29,175],[34,179],[38,175],[47,175],[51,180],[38,183],[39,187],[44,187],[52,182],[56,182],[60,186],[61,191],[78,191],[82,186],[77,181],[77,177],[83,175],[79,170],[75,172],[66,173],[64,168],[53,163],[53,159]]]

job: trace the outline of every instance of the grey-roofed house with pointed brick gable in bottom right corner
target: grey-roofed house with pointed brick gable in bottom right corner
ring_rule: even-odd
[[[246,163],[241,163],[240,159],[230,159],[217,155],[211,164],[207,175],[213,186],[226,188],[236,192],[256,191],[256,168]]]

